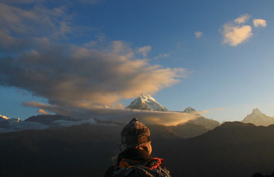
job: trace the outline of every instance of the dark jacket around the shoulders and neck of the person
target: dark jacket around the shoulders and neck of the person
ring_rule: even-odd
[[[160,158],[158,158],[160,159]],[[123,165],[127,167],[127,165],[144,165],[146,167],[155,167],[158,162],[161,161],[160,167],[164,169],[165,172],[169,173],[169,171],[164,167],[163,161],[164,159],[160,159],[160,161],[155,161],[155,158],[149,155],[145,150],[136,150],[136,149],[128,149],[124,152],[121,152],[116,159],[116,163],[114,166],[109,167],[105,172],[105,177],[112,177],[112,174],[115,170],[119,169]],[[126,162],[126,163],[125,163]],[[156,163],[157,162],[157,163]]]

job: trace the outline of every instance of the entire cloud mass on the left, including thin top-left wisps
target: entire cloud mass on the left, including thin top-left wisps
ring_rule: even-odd
[[[23,103],[39,113],[122,108],[121,99],[156,93],[187,75],[183,68],[149,64],[143,57],[151,46],[132,49],[101,38],[88,46],[62,43],[77,31],[64,7],[0,7],[0,85],[48,99],[49,104]]]

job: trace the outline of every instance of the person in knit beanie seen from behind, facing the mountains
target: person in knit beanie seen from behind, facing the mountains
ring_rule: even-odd
[[[105,172],[110,176],[170,176],[163,158],[151,156],[150,131],[134,117],[121,131],[120,154]]]

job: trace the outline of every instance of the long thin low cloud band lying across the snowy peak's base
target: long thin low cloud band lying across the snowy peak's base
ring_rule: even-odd
[[[51,106],[46,106],[45,104],[40,104],[38,102],[28,102],[25,106],[34,106],[36,108],[49,108],[52,110]],[[188,113],[178,113],[178,112],[162,112],[162,111],[148,111],[148,110],[128,110],[128,109],[71,109],[64,108],[61,106],[55,106],[56,113],[62,113],[62,115],[74,117],[75,119],[81,119],[82,123],[88,121],[88,123],[96,123],[92,120],[97,121],[97,123],[111,123],[111,124],[121,124],[127,123],[132,119],[132,117],[137,117],[139,121],[146,124],[157,124],[164,126],[177,126],[178,124],[186,123],[187,121],[196,119],[196,115],[190,115]],[[66,122],[68,125],[75,122]]]

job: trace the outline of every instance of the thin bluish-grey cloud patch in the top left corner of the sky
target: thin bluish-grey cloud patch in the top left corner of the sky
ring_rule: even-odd
[[[0,3],[0,30],[2,33],[16,36],[46,36],[53,38],[73,32],[70,26],[71,15],[66,8],[45,8],[34,5],[32,8]]]

